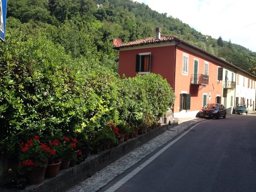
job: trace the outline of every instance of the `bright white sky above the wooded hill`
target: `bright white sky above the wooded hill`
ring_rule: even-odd
[[[255,0],[134,0],[180,19],[198,32],[256,52]]]

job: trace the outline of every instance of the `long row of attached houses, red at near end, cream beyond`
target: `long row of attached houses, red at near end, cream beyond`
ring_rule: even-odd
[[[174,117],[196,116],[210,102],[222,103],[232,113],[241,98],[254,109],[256,90],[251,85],[255,84],[255,76],[176,36],[161,35],[160,28],[156,28],[155,37],[123,43],[114,49],[119,50],[120,76],[152,72],[166,78],[176,95]],[[246,84],[237,91],[236,76],[250,80],[250,88]]]

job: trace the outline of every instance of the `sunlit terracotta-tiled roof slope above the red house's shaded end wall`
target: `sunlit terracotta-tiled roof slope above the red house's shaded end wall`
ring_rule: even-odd
[[[176,36],[167,36],[167,35],[161,35],[160,39],[156,39],[155,36],[147,37],[147,38],[144,38],[144,39],[138,39],[138,40],[135,40],[135,41],[130,41],[128,43],[123,43],[123,44],[114,46],[114,49],[119,50],[119,48],[123,48],[123,47],[131,47],[131,46],[145,45],[145,44],[154,44],[154,43],[168,42],[168,41],[171,42],[172,40],[179,40],[179,38],[176,37]]]

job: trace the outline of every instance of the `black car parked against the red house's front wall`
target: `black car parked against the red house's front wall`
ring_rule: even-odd
[[[226,108],[222,104],[217,103],[210,103],[206,104],[201,110],[200,110],[200,116],[201,117],[211,117],[211,118],[226,118]]]

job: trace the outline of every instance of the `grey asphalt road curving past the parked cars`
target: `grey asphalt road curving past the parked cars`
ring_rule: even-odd
[[[256,192],[255,120],[234,115],[201,122],[99,191]]]

